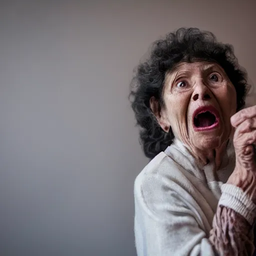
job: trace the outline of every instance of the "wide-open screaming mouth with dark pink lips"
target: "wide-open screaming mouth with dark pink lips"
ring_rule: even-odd
[[[219,123],[219,114],[213,106],[197,108],[193,114],[193,126],[195,130],[210,130]]]

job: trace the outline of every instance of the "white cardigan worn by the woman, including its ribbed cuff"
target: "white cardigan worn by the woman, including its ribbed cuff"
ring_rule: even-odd
[[[155,156],[134,183],[137,255],[214,255],[208,236],[218,204],[252,224],[256,205],[240,188],[223,184],[234,163],[232,141],[217,178],[212,163],[200,166],[177,139]]]

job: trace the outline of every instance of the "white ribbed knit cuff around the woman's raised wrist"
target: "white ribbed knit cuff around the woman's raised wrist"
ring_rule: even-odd
[[[218,205],[233,209],[252,225],[256,217],[256,205],[249,196],[240,187],[232,184],[223,184],[221,192]]]

